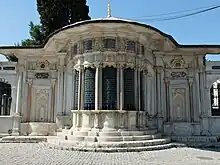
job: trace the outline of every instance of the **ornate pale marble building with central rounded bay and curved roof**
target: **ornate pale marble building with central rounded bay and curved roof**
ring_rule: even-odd
[[[19,60],[1,63],[1,84],[9,87],[1,135],[218,136],[220,62],[204,56],[219,52],[220,45],[181,45],[152,26],[113,17],[63,27],[42,46],[2,46],[1,54]]]

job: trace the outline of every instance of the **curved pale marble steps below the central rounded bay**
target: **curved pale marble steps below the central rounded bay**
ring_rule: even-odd
[[[95,151],[128,152],[167,149],[173,147],[171,138],[162,137],[156,129],[146,130],[68,130],[48,139],[49,148]]]

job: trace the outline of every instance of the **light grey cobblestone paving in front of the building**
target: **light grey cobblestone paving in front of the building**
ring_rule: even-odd
[[[0,144],[0,165],[219,165],[220,150],[94,153],[49,149],[41,144]]]

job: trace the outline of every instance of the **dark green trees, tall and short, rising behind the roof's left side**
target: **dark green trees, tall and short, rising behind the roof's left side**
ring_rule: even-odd
[[[16,46],[42,45],[54,31],[75,22],[89,20],[89,7],[86,0],[37,0],[40,24],[29,24],[29,39]],[[6,56],[9,61],[17,61],[15,56]]]

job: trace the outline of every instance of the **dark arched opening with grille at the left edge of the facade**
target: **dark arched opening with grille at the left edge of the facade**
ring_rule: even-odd
[[[0,78],[0,115],[10,115],[12,97],[11,84],[4,78]]]

